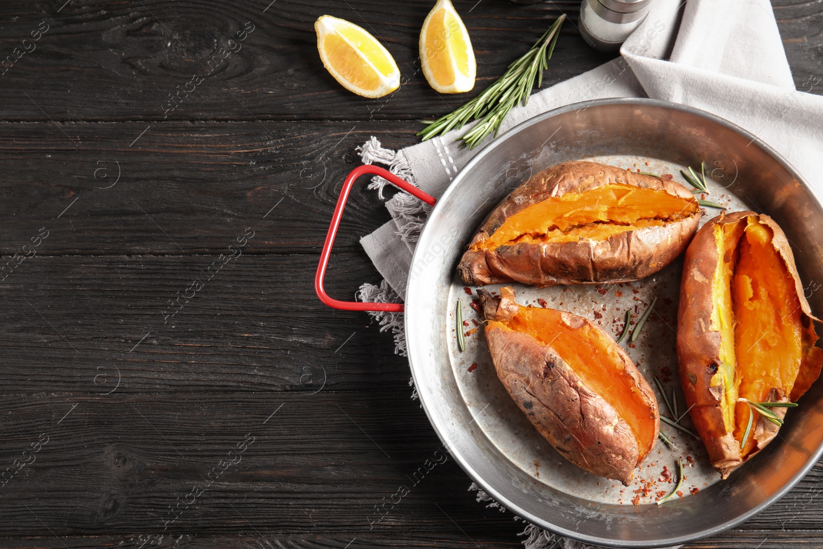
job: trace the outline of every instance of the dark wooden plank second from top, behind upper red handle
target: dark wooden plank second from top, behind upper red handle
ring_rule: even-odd
[[[141,137],[146,127],[0,123],[0,216],[14,220],[0,254],[31,254],[42,228],[39,255],[221,254],[246,227],[248,254],[317,254],[355,148],[417,141],[397,122],[154,123]],[[368,183],[351,193],[337,249],[360,249],[391,219]]]

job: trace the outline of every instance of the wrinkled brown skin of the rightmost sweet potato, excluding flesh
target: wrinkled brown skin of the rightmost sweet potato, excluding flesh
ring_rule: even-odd
[[[740,443],[732,434],[733,429],[727,431],[723,421],[721,401],[725,389],[722,386],[711,387],[712,378],[720,367],[721,344],[720,332],[711,329],[714,307],[712,280],[718,262],[723,259],[718,254],[714,227],[737,223],[745,220],[747,216],[757,217],[760,223],[772,230],[772,244],[793,277],[802,314],[807,322],[817,320],[811,314],[811,308],[803,295],[802,282],[797,274],[786,235],[770,216],[756,212],[733,212],[715,217],[697,232],[686,250],[681,278],[680,305],[677,309],[677,361],[691,419],[703,440],[709,460],[723,478],[728,477],[735,468],[765,448],[779,430],[778,426],[755,414],[751,436],[756,440],[756,450],[745,457],[742,456]],[[811,352],[819,353],[820,350]],[[820,370],[817,370],[813,378],[816,379],[819,374]],[[807,388],[808,386],[803,388],[802,392]],[[802,392],[793,391],[792,395],[786,395],[773,391],[770,399],[774,402],[789,402],[800,398]],[[785,408],[772,410],[781,417],[786,413]]]

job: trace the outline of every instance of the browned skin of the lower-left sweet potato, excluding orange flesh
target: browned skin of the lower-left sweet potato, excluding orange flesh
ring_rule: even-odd
[[[485,290],[480,295],[486,319],[504,320],[517,314],[510,288],[501,289],[501,298],[493,298]],[[575,328],[588,324],[599,329],[576,314],[564,313],[562,318]],[[628,486],[649,449],[639,447],[630,426],[614,407],[590,390],[551,347],[532,336],[486,328],[486,341],[500,381],[537,431],[579,468]],[[625,351],[619,352],[625,373],[648,402],[649,416],[659,430],[652,388]]]

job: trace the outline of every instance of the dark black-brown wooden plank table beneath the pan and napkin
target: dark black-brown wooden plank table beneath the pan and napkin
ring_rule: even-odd
[[[451,460],[371,524],[439,440],[391,337],[312,285],[355,147],[412,144],[465,99],[415,64],[433,2],[269,2],[0,4],[4,547],[519,547]],[[472,94],[579,7],[455,4]],[[775,11],[797,88],[820,93],[823,4]],[[326,13],[374,30],[400,91],[332,80]],[[568,24],[544,85],[609,58]],[[379,281],[358,239],[388,221],[373,192],[349,203],[337,296]],[[815,468],[691,547],[823,547],[821,491]]]

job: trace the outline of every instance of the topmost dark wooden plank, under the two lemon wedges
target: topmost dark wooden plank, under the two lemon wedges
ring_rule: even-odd
[[[60,12],[63,2],[58,0],[36,7],[24,0],[3,2],[3,55],[12,54],[43,21],[49,30],[34,51],[12,58],[2,75],[0,119],[151,123],[436,117],[500,77],[560,12],[567,12],[570,22],[546,71],[545,86],[614,57],[588,48],[580,38],[574,25],[579,1],[454,3],[477,54],[477,86],[457,96],[432,90],[417,63],[429,0],[154,0],[109,2],[105,8],[71,2]],[[314,21],[323,14],[343,17],[377,35],[401,69],[401,89],[367,100],[337,84],[317,52]],[[253,30],[239,41],[244,29]],[[49,86],[32,86],[45,75]],[[193,80],[194,75],[202,80]]]

